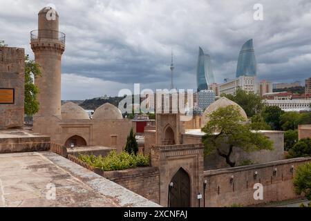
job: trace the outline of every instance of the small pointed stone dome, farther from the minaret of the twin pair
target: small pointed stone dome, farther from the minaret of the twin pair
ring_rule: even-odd
[[[92,119],[123,119],[123,117],[119,108],[106,103],[95,110]]]

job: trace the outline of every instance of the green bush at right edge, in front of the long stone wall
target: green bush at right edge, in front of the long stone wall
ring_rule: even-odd
[[[297,167],[293,180],[296,194],[304,193],[311,200],[311,163],[305,163]]]

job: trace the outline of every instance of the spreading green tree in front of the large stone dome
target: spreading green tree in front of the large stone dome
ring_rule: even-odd
[[[216,152],[225,158],[229,166],[234,167],[236,162],[230,160],[234,148],[241,148],[246,152],[272,150],[272,141],[261,133],[252,132],[249,124],[243,122],[244,117],[232,105],[218,108],[209,114],[209,122],[202,128],[205,132],[205,155]]]

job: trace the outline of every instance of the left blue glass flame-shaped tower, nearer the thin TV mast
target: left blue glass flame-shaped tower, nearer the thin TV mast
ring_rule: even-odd
[[[211,57],[206,55],[199,47],[198,65],[196,69],[196,82],[198,91],[207,90],[208,85],[215,82],[214,73],[211,68]]]

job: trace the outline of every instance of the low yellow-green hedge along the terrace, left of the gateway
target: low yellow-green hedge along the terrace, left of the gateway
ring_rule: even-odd
[[[122,151],[117,154],[116,151],[111,151],[106,157],[99,155],[79,155],[79,160],[86,164],[102,169],[103,171],[120,171],[124,169],[134,168],[136,166],[149,166],[149,156],[144,156],[141,153],[135,155]]]

